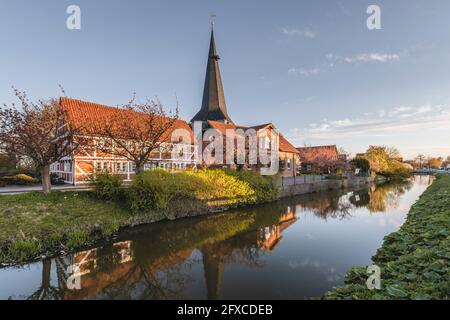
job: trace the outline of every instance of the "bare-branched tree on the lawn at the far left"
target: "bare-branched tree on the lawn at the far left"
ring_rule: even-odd
[[[42,175],[42,191],[51,190],[50,165],[70,155],[78,144],[73,137],[81,130],[67,120],[58,100],[32,102],[15,88],[20,107],[0,107],[0,143],[19,156],[32,160]]]

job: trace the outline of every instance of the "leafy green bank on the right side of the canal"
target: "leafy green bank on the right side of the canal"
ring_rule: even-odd
[[[386,236],[373,262],[381,268],[381,290],[368,290],[367,267],[356,267],[347,273],[344,286],[323,298],[450,298],[450,175],[438,176],[400,230]]]

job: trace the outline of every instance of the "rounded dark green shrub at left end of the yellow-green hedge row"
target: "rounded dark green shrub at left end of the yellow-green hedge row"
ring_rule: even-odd
[[[124,196],[123,178],[107,172],[97,173],[92,177],[90,185],[96,198],[104,200],[121,200]]]

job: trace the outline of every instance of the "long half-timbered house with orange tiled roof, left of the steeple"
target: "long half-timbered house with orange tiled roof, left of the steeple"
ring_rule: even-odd
[[[82,128],[75,137],[80,146],[70,156],[51,166],[51,172],[69,184],[85,184],[89,178],[98,171],[107,171],[122,175],[127,181],[136,172],[134,162],[119,152],[114,142],[108,141],[104,135],[104,127],[114,117],[120,117],[123,110],[91,102],[61,98],[60,107],[66,111],[66,121],[75,127]],[[136,113],[136,117],[145,117],[145,114]],[[191,143],[172,143],[167,137],[176,129],[183,129],[190,135]],[[118,133],[120,134],[120,133]],[[124,138],[126,133],[124,133]],[[160,148],[151,153],[145,169],[165,168],[169,170],[193,168],[196,166],[197,146],[194,134],[189,124],[183,120],[176,120],[167,134]],[[81,142],[80,142],[81,141]],[[108,146],[105,148],[105,145]],[[171,150],[177,147],[180,155],[173,158]]]

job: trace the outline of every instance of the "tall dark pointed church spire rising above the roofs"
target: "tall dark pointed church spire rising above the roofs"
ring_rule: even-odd
[[[222,78],[220,76],[219,55],[214,39],[214,18],[211,20],[211,42],[208,54],[208,66],[206,68],[205,87],[203,89],[203,102],[200,111],[192,121],[215,120],[233,123],[228,116],[225,94],[223,92]]]

